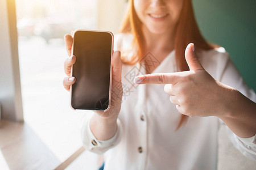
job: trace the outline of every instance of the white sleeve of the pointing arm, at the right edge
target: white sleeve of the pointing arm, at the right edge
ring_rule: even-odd
[[[250,100],[254,102],[256,101],[255,92],[246,85],[241,74],[236,69],[229,57],[226,59],[226,65],[221,76],[221,83],[235,88]],[[256,134],[250,138],[240,138],[234,134],[233,131],[228,128],[228,126],[226,126],[226,132],[234,147],[240,150],[247,158],[256,160]]]

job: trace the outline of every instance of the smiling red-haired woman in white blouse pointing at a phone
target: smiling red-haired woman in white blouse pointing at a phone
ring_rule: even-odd
[[[70,56],[72,36],[65,42]],[[129,1],[115,49],[114,109],[89,114],[82,128],[105,169],[217,169],[222,121],[234,146],[256,159],[256,95],[225,49],[203,39],[191,0]],[[64,63],[68,76],[75,61]],[[67,90],[73,83],[63,80]]]

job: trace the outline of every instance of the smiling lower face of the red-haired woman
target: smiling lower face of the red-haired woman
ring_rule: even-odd
[[[134,8],[143,26],[152,33],[166,33],[179,21],[184,0],[134,0]]]

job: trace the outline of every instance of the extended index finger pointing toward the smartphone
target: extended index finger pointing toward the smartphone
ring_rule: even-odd
[[[137,76],[136,84],[176,84],[180,76],[178,73],[153,73]]]

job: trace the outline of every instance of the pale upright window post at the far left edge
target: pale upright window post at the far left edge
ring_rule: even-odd
[[[7,2],[9,6],[7,6]],[[7,120],[23,121],[16,16],[13,9],[15,9],[13,0],[0,1],[1,117]],[[10,11],[9,14],[8,11]]]

